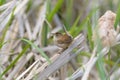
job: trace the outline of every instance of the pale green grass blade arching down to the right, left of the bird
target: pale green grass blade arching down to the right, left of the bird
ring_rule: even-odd
[[[48,58],[48,56],[43,52],[42,49],[40,49],[39,47],[37,47],[34,43],[32,43],[31,41],[27,40],[27,39],[21,39],[25,42],[27,42],[28,44],[30,44],[32,47],[34,47],[36,50],[38,50],[40,52],[40,54],[47,60],[48,63],[51,63],[50,59]]]

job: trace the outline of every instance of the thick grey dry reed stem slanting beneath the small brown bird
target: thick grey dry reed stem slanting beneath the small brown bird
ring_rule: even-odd
[[[56,70],[60,69],[61,66],[66,64],[68,61],[70,61],[73,57],[75,57],[81,50],[83,50],[83,47],[78,49],[78,51],[74,54],[71,54],[71,51],[82,44],[84,41],[84,36],[83,35],[78,35],[73,43],[66,49],[63,53],[61,53],[60,57],[56,61],[54,61],[51,65],[49,65],[43,72],[41,72],[38,76],[39,80],[43,80],[48,78],[53,72]]]

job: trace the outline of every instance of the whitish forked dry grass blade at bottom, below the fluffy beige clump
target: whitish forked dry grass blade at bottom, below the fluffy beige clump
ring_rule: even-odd
[[[100,52],[100,55],[105,56],[108,53],[108,51],[109,51],[109,48],[106,47]],[[72,74],[72,76],[66,78],[66,80],[75,80],[78,77],[82,77],[81,80],[88,80],[89,73],[92,70],[92,68],[94,67],[98,58],[99,58],[99,56],[96,56],[96,48],[95,48],[90,60],[85,65],[83,65],[82,67],[77,69]]]

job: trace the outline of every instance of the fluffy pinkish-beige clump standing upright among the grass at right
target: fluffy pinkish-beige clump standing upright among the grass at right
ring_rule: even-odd
[[[106,11],[106,13],[99,18],[98,28],[93,32],[94,42],[97,41],[97,36],[99,36],[103,47],[110,47],[116,44],[117,31],[114,29],[115,19],[116,14],[112,11]]]

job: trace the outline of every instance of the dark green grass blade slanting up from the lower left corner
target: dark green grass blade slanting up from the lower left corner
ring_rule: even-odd
[[[18,54],[18,56],[15,58],[15,60],[12,61],[11,64],[3,71],[3,73],[0,75],[0,79],[17,63],[17,61],[20,59],[20,57],[22,57],[23,54],[25,54],[25,52],[28,50],[29,47],[30,47],[30,45],[26,45],[24,47],[24,49],[21,51],[20,54]]]

